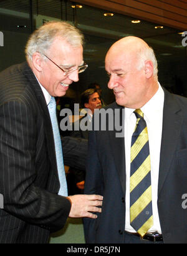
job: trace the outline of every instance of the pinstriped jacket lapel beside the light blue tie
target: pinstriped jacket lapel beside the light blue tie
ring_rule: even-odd
[[[27,63],[24,66],[23,74],[26,76],[27,80],[29,81],[29,86],[31,86],[32,91],[35,92],[37,101],[39,102],[39,108],[41,109],[41,112],[44,116],[44,133],[46,135],[46,142],[47,142],[47,152],[49,155],[51,168],[54,169],[55,175],[57,177],[57,164],[55,159],[55,145],[54,145],[54,138],[53,138],[53,132],[52,132],[52,124],[50,121],[49,111],[46,104],[46,99],[44,97],[44,94],[42,92],[41,87],[39,86],[39,83],[37,82],[36,77],[34,76],[34,73],[32,72],[31,68],[27,65]]]

